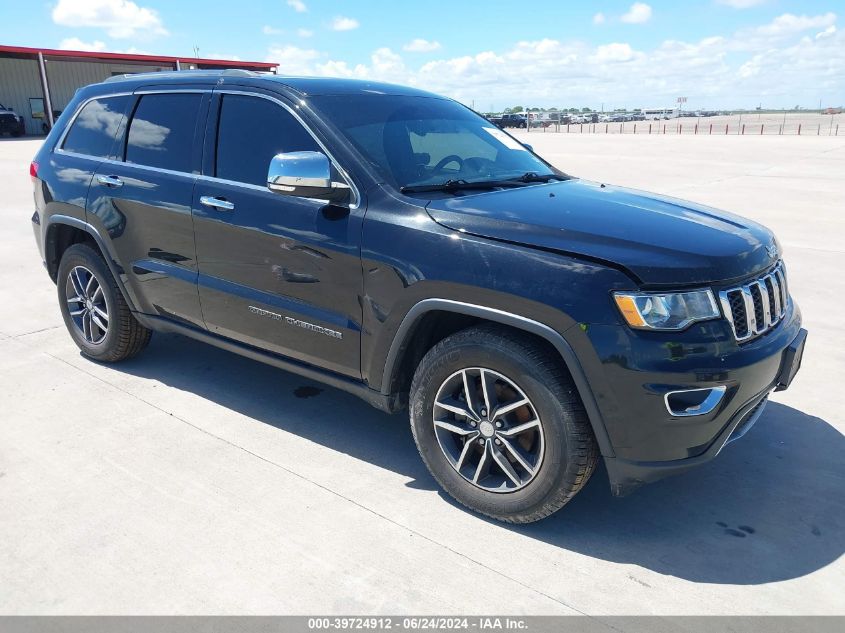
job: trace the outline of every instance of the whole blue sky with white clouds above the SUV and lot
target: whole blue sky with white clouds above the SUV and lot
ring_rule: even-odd
[[[845,103],[843,0],[4,2],[0,43],[279,62],[475,103]]]

